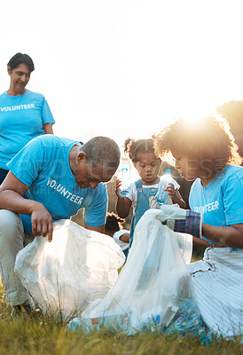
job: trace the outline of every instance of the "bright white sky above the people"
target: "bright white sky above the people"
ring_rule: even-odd
[[[149,138],[243,99],[242,15],[241,0],[1,0],[0,91],[26,52],[57,135]]]

